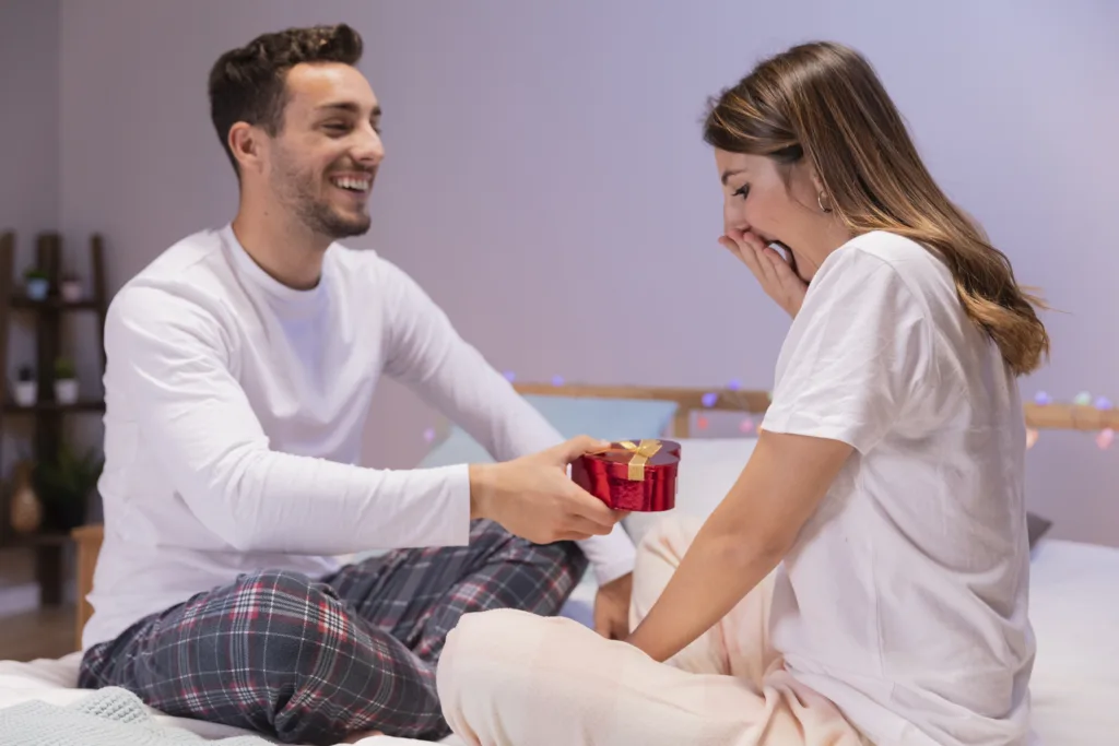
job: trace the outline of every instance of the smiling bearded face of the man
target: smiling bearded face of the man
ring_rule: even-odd
[[[368,81],[349,65],[297,65],[288,73],[286,102],[265,172],[280,209],[331,240],[366,233],[385,157]]]

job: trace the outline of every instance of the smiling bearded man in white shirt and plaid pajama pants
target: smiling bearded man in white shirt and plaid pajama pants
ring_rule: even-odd
[[[337,26],[217,60],[237,215],[164,252],[105,324],[81,684],[283,742],[448,734],[434,671],[459,617],[555,614],[587,558],[601,631],[627,632],[632,544],[566,473],[598,443],[562,443],[410,277],[335,243],[369,228],[384,157],[360,55]],[[499,462],[355,465],[380,372]],[[332,559],[375,547],[396,550]]]

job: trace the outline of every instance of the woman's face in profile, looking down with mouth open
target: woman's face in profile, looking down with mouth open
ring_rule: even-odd
[[[841,242],[835,243],[837,220],[820,209],[820,190],[808,168],[718,149],[715,164],[723,183],[724,232],[753,234],[763,244],[781,242],[793,271],[811,280]]]

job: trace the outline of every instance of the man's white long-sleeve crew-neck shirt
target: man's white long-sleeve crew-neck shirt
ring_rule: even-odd
[[[499,461],[562,441],[372,251],[332,245],[298,291],[229,226],[195,234],[116,294],[105,349],[105,539],[83,648],[242,573],[317,577],[356,551],[467,544],[466,464],[356,465],[382,374]],[[620,525],[580,546],[599,583],[632,570]]]

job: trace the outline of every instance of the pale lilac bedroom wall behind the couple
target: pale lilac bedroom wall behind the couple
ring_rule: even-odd
[[[868,55],[933,173],[1060,309],[1025,393],[1119,400],[1113,3],[63,0],[59,210],[68,233],[109,236],[114,289],[232,217],[214,58],[340,20],[366,36],[388,149],[374,229],[352,244],[412,273],[501,369],[770,385],[788,322],[715,243],[697,122],[760,56],[828,37]],[[636,331],[639,313],[652,321]],[[374,415],[367,461],[415,463],[434,415],[392,384]],[[1046,433],[1028,470],[1055,535],[1119,545],[1119,445]]]

